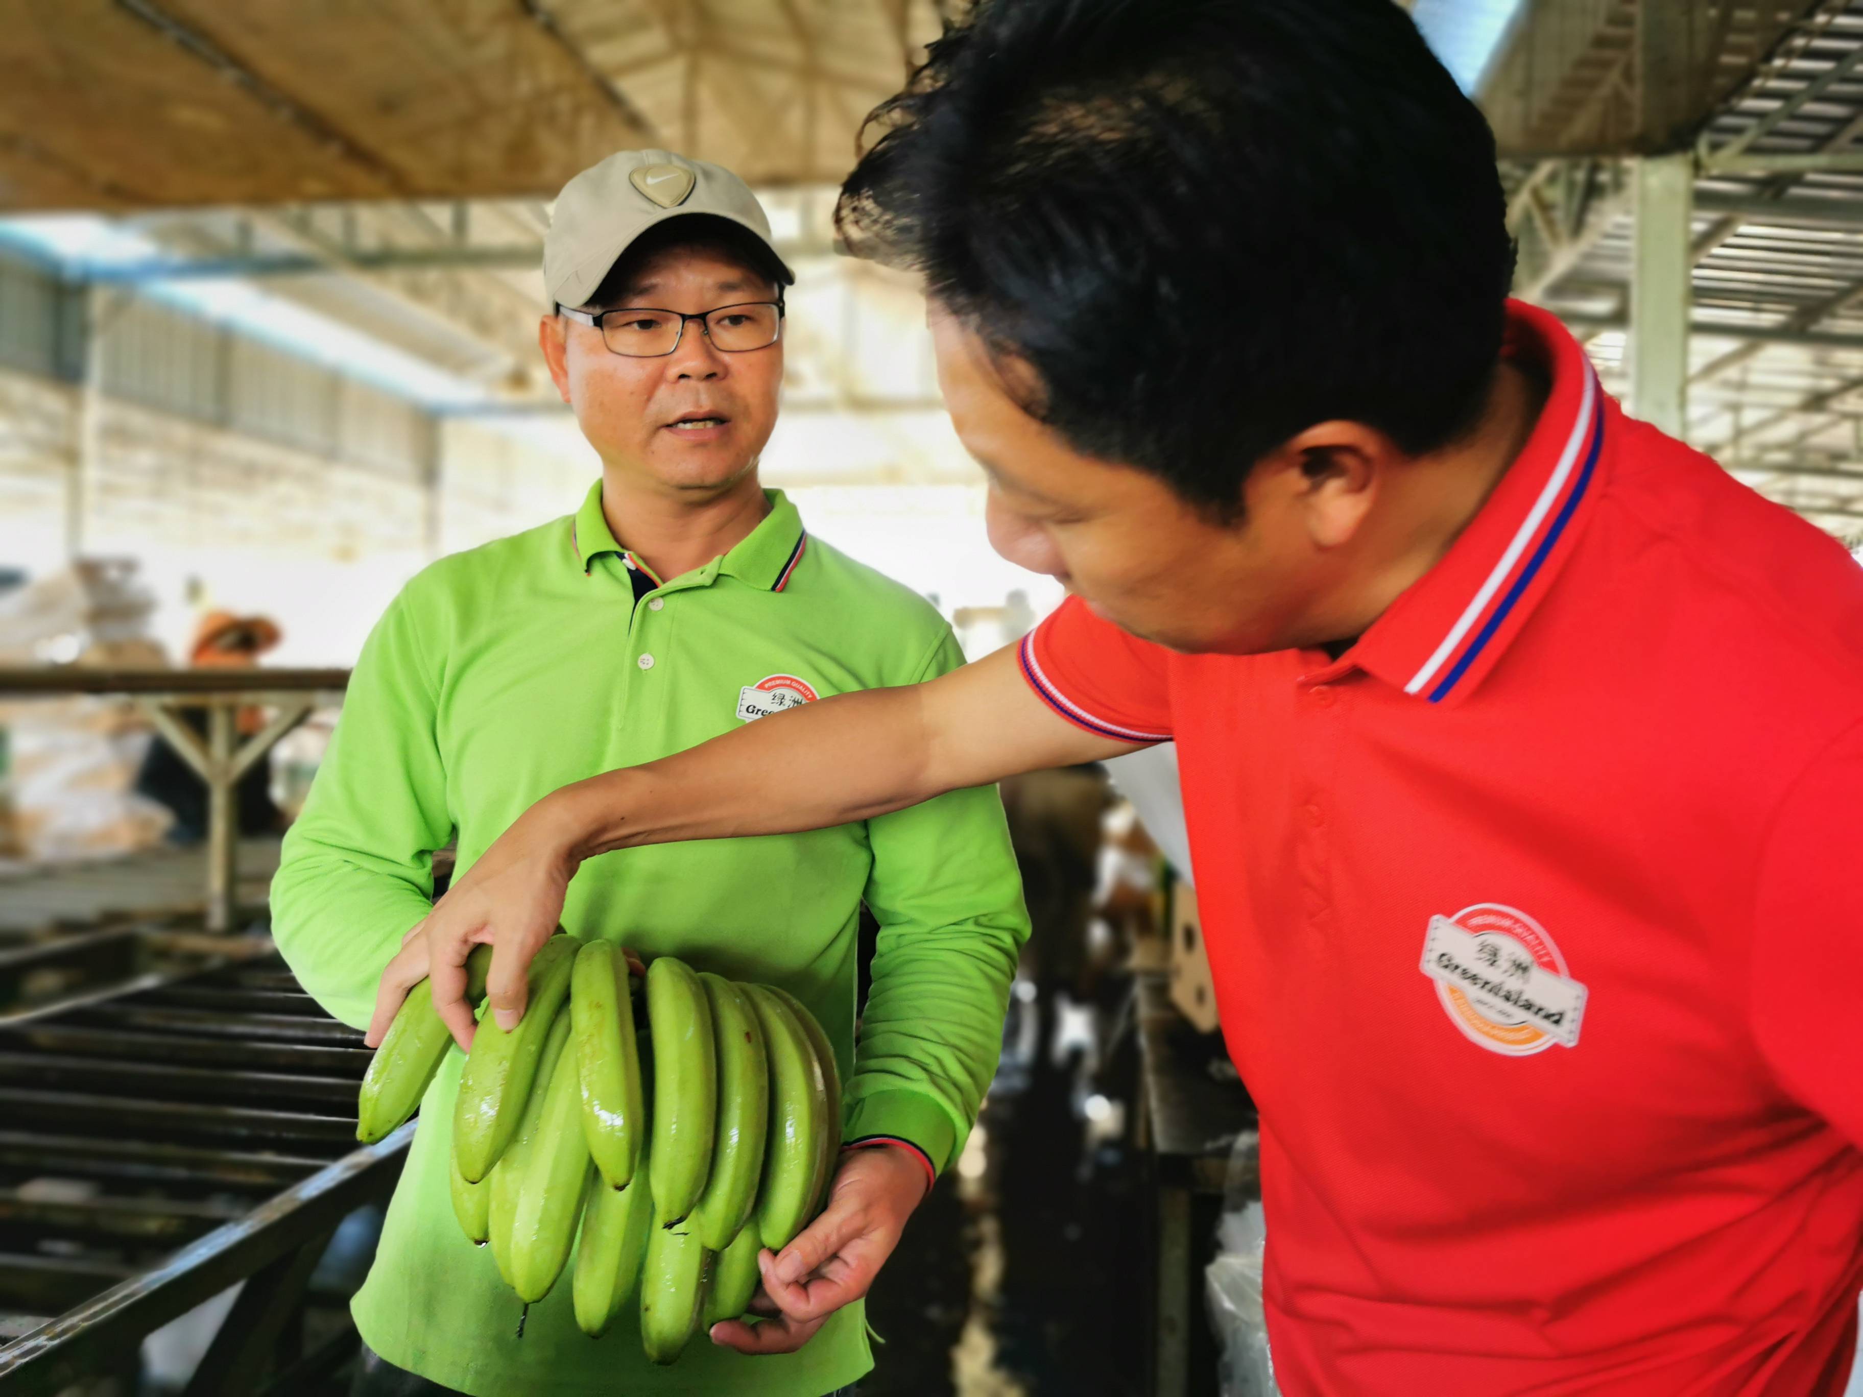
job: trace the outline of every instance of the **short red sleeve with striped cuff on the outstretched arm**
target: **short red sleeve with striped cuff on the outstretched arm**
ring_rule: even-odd
[[[1023,678],[1064,719],[1116,741],[1170,741],[1170,650],[1069,596],[1021,643]]]

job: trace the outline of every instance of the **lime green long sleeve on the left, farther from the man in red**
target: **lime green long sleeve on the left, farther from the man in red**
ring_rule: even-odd
[[[419,631],[402,592],[356,661],[272,879],[279,954],[306,993],[358,1028],[401,937],[432,911],[432,849],[453,834],[434,736],[438,676]]]

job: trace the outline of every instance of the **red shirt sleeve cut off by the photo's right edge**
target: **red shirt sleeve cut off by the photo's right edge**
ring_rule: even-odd
[[[1787,1093],[1863,1146],[1863,725],[1798,779],[1755,896],[1753,1034]]]

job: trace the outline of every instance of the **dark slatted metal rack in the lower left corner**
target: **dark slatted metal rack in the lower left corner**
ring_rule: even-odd
[[[0,1015],[0,1097],[11,1099],[0,1101],[0,1166],[123,1181],[76,1200],[0,1188],[0,1224],[28,1235],[101,1226],[132,1255],[162,1250],[156,1239],[170,1227],[192,1233],[147,1267],[48,1255],[47,1270],[61,1268],[76,1293],[50,1319],[37,1319],[52,1313],[43,1309],[7,1317],[0,1397],[50,1397],[119,1371],[143,1336],[238,1282],[244,1289],[183,1397],[283,1393],[354,1350],[354,1330],[313,1354],[294,1349],[306,1289],[337,1224],[393,1192],[417,1121],[352,1147],[358,1060],[367,1058],[360,1034],[306,1013],[307,997],[285,967],[266,969],[270,941],[183,941],[205,963]],[[246,1065],[222,1078],[235,1054]],[[108,1088],[95,1084],[99,1073],[112,1075]],[[203,1092],[209,1077],[220,1078],[212,1093]],[[22,1114],[7,1116],[13,1106]],[[121,1138],[93,1129],[99,1112],[123,1127]],[[261,1201],[238,1209],[220,1192]],[[0,1261],[17,1282],[34,1254],[6,1250]]]

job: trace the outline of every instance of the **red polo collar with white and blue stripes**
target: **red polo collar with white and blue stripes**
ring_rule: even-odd
[[[1606,397],[1585,350],[1546,311],[1507,302],[1503,354],[1552,380],[1533,434],[1442,561],[1341,661],[1435,704],[1494,669],[1602,494]]]

